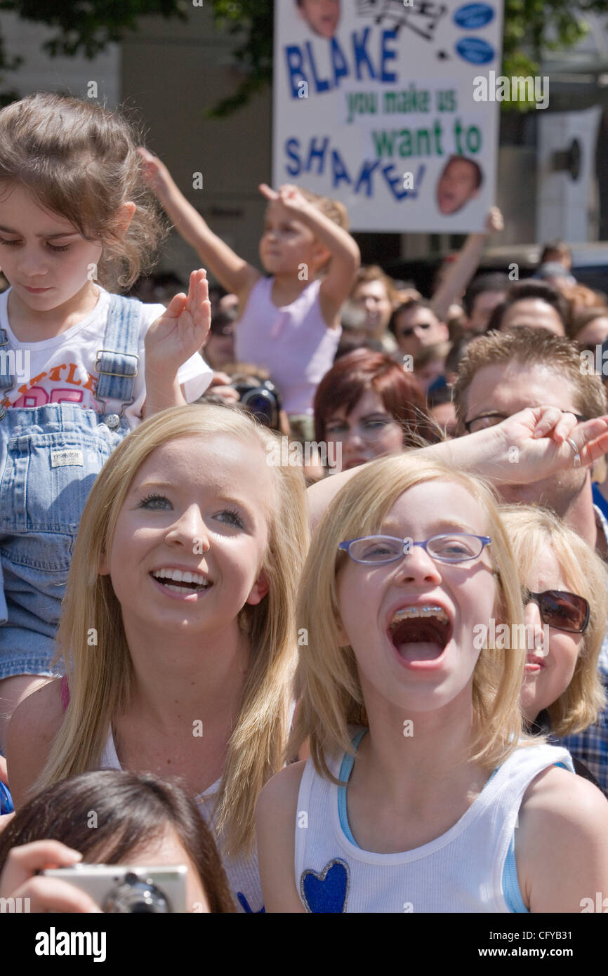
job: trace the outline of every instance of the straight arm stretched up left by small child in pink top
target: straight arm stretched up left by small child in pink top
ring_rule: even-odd
[[[252,264],[239,258],[228,245],[214,234],[201,215],[185,199],[164,163],[142,146],[138,149],[143,161],[143,176],[173,222],[176,230],[193,247],[203,264],[215,274],[228,292],[237,295],[241,307],[248,292],[261,277]]]

